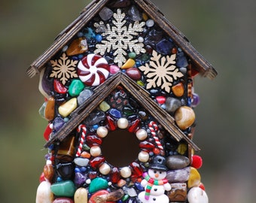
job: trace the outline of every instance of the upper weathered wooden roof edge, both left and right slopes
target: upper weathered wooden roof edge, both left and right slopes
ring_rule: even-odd
[[[34,77],[38,74],[46,65],[46,63],[66,45],[68,41],[72,39],[78,31],[84,27],[101,9],[109,2],[109,0],[94,0],[84,10],[81,15],[74,20],[66,29],[64,29],[53,44],[45,50],[45,52],[38,57],[27,69],[29,77]],[[160,10],[149,0],[134,0],[142,9],[151,17],[152,20],[158,23],[158,25],[169,35],[170,38],[187,54],[192,60],[194,67],[203,77],[209,77],[213,79],[217,76],[217,71],[212,65],[197,52],[197,50],[187,41],[187,38],[166,20],[166,17],[160,12]]]

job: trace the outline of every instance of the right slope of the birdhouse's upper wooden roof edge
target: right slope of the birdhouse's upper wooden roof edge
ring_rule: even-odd
[[[203,56],[198,53],[198,51],[190,44],[187,38],[175,27],[169,20],[164,17],[164,15],[159,11],[159,9],[151,3],[149,0],[134,0],[138,5],[145,9],[145,12],[150,16],[155,22],[159,24],[160,28],[163,29],[175,44],[177,44],[187,56],[194,62],[197,71],[200,72],[203,77],[209,77],[213,79],[217,76],[217,71],[212,65],[203,58]],[[156,12],[157,11],[157,12]]]

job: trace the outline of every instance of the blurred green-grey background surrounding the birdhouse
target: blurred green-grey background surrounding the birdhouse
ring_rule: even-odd
[[[38,76],[26,68],[90,1],[2,0],[0,4],[0,197],[4,203],[35,202],[44,167],[38,114],[44,102]],[[202,182],[210,202],[254,202],[256,180],[256,2],[253,0],[153,1],[218,70],[197,77],[194,141],[202,149]]]

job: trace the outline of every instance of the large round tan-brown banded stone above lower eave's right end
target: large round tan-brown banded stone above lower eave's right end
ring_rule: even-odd
[[[177,126],[181,130],[184,130],[192,126],[196,119],[196,116],[192,108],[182,106],[175,111],[174,118]]]

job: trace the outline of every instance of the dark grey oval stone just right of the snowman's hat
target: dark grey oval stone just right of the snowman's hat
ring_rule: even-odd
[[[169,169],[181,169],[187,167],[190,164],[187,156],[172,155],[166,158],[166,166]]]

